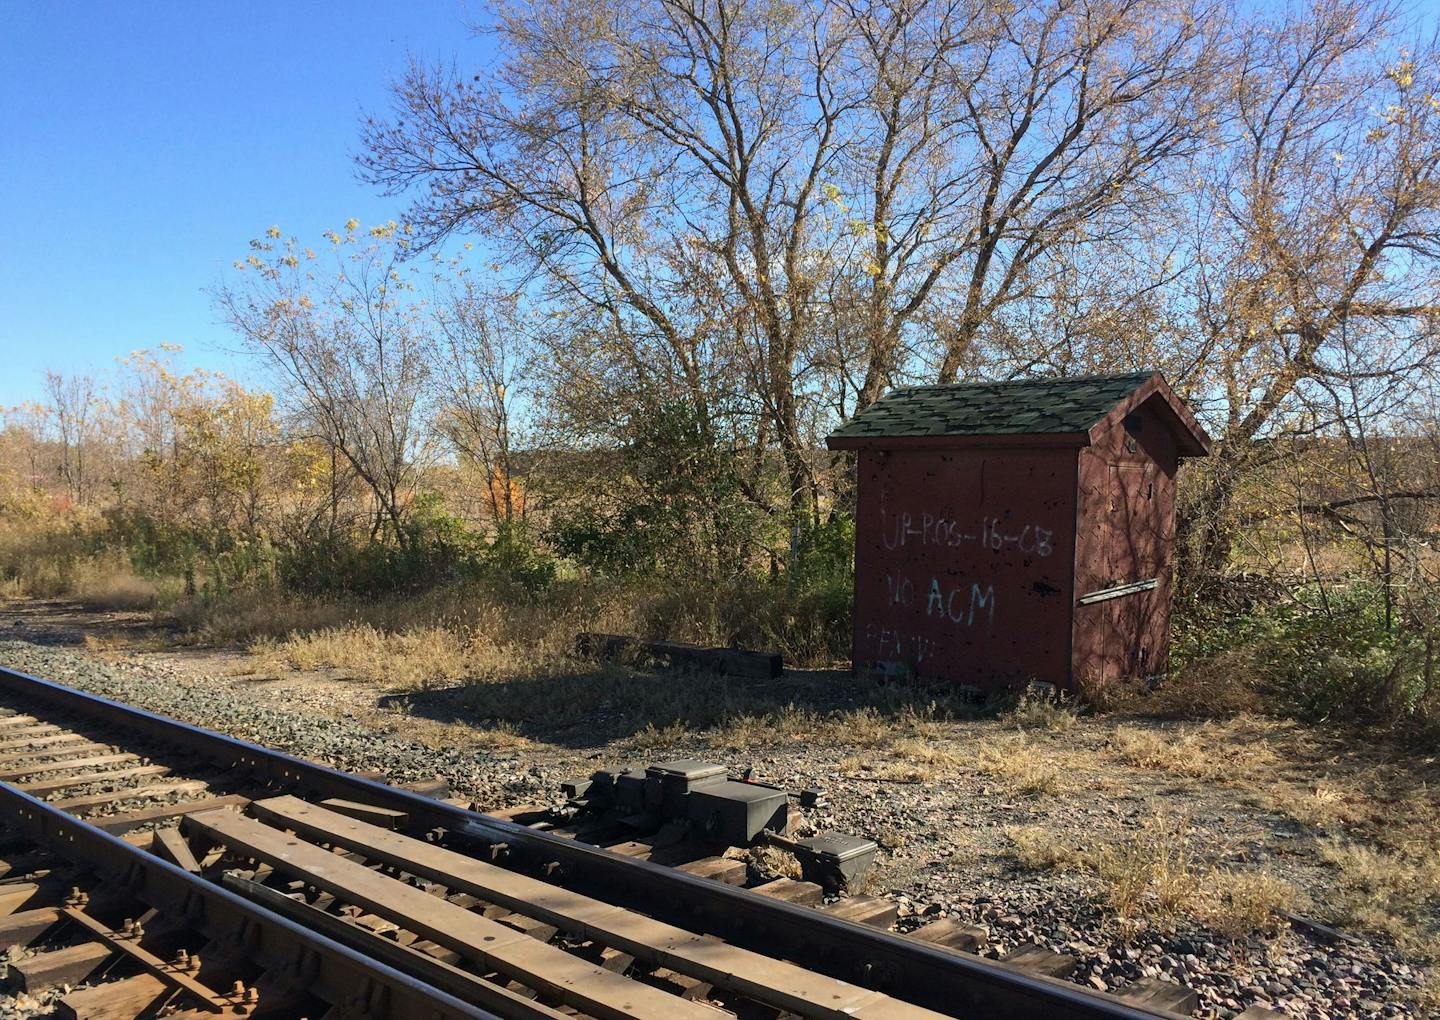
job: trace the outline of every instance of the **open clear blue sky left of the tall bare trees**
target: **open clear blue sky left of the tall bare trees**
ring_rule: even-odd
[[[243,377],[204,294],[278,225],[403,203],[354,177],[413,53],[480,63],[465,0],[0,0],[0,406],[48,369],[183,344]]]

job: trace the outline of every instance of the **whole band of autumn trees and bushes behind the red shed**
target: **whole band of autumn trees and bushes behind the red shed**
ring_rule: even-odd
[[[1159,367],[1215,438],[1188,598],[1364,576],[1430,634],[1440,46],[1407,10],[503,0],[492,58],[364,124],[402,225],[272,229],[217,285],[272,392],[56,376],[12,491],[792,585],[848,569],[822,439],[890,388]]]

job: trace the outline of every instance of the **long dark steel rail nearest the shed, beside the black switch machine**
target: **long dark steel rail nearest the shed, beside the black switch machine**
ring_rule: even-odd
[[[340,797],[403,811],[413,824],[485,846],[504,844],[534,867],[559,866],[566,885],[678,926],[700,926],[729,942],[783,957],[809,970],[873,987],[896,998],[985,1020],[1153,1020],[1178,1017],[1128,1006],[1080,985],[996,961],[907,939],[808,906],[626,857],[422,794],[341,772],[131,704],[0,668],[0,689],[79,712],[124,719],[131,732],[212,762],[317,797]]]

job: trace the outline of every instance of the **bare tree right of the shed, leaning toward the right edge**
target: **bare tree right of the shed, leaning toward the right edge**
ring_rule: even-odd
[[[1181,522],[1197,578],[1230,555],[1259,438],[1318,389],[1385,386],[1440,353],[1437,49],[1408,33],[1361,0],[1246,29],[1225,144],[1197,173],[1188,386],[1218,424]]]

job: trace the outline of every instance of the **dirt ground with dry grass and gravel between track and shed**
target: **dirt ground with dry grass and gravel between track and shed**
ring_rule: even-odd
[[[1208,1016],[1251,1003],[1293,1016],[1440,1016],[1428,970],[1440,949],[1434,758],[1259,716],[1162,722],[1022,706],[955,719],[832,671],[721,686],[609,668],[396,692],[177,637],[147,614],[0,604],[0,640],[474,748],[556,797],[572,775],[675,756],[821,787],[829,805],[812,824],[880,843],[867,890],[896,898],[903,925],[956,916],[988,926],[995,954],[1027,941],[1076,952],[1092,987],[1153,972],[1201,988]],[[380,707],[389,693],[400,697]],[[717,697],[700,723],[645,717],[674,699]]]

